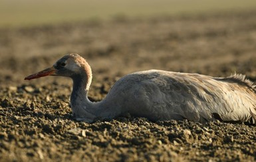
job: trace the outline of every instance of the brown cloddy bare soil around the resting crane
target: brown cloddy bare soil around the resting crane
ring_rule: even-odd
[[[89,96],[120,77],[164,69],[256,81],[256,11],[0,29],[0,161],[256,161],[255,126],[72,118],[72,82],[24,81],[67,53],[90,63]]]

